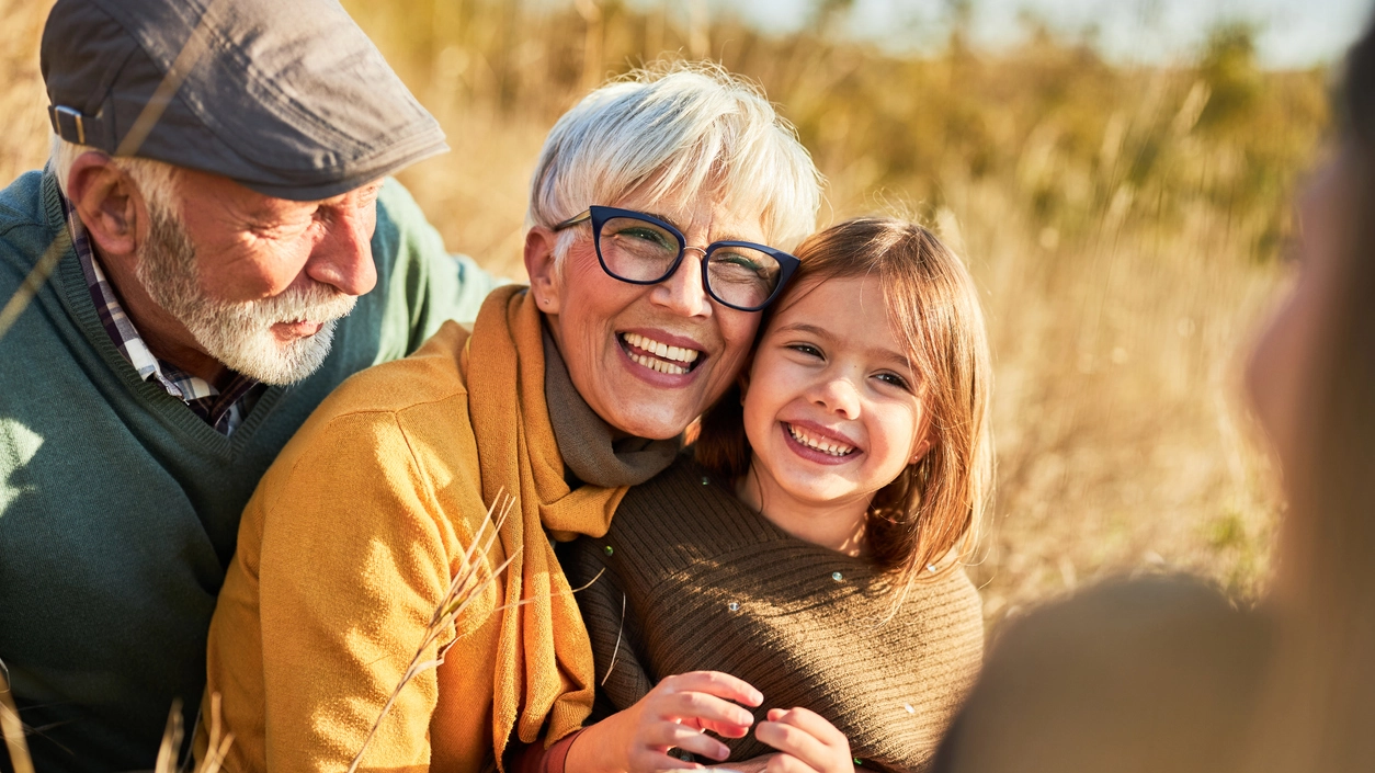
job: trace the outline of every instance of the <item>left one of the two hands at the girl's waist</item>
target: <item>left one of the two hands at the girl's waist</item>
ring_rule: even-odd
[[[734,701],[734,703],[732,703]],[[726,744],[711,730],[741,739],[754,714],[736,706],[759,706],[763,696],[742,679],[720,671],[692,671],[661,679],[635,706],[587,728],[568,750],[569,773],[682,770],[701,767],[668,756],[681,748],[708,759],[726,759]]]

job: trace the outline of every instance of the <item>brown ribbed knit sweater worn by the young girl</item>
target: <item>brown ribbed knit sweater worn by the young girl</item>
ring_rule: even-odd
[[[756,722],[802,706],[844,732],[865,767],[920,770],[983,653],[962,571],[918,582],[876,626],[891,605],[880,572],[788,535],[688,457],[631,488],[606,536],[579,539],[562,563],[573,587],[605,569],[578,594],[600,684],[594,719],[661,677],[716,670],[764,695]],[[752,733],[725,743],[732,761],[774,751]]]

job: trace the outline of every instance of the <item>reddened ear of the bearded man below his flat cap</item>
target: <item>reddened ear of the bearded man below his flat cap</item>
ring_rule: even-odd
[[[103,256],[125,257],[138,250],[143,198],[109,155],[89,151],[72,162],[67,198]]]

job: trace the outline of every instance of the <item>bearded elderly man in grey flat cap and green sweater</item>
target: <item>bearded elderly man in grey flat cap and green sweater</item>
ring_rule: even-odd
[[[52,160],[0,193],[0,303],[60,250],[0,340],[0,660],[38,770],[151,767],[263,472],[494,282],[386,179],[443,133],[331,0],[59,0],[43,73]]]

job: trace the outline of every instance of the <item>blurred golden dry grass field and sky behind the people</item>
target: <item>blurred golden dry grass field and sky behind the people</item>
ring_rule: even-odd
[[[818,226],[924,221],[971,265],[998,488],[990,623],[1115,574],[1264,587],[1280,512],[1240,399],[1287,279],[1360,0],[345,0],[454,151],[402,175],[450,249],[520,279],[528,177],[605,78],[710,58],[826,175]],[[0,179],[43,165],[51,3],[0,0]]]

